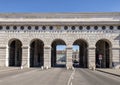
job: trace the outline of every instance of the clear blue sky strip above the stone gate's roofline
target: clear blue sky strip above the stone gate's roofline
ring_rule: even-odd
[[[120,0],[0,0],[0,12],[119,12]]]

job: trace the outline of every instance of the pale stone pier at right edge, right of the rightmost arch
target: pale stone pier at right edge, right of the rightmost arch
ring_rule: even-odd
[[[119,53],[120,48],[112,48],[111,55],[110,55],[110,67],[115,67],[119,68],[120,67],[120,53]],[[112,59],[111,59],[112,58]],[[118,66],[119,65],[119,66]]]

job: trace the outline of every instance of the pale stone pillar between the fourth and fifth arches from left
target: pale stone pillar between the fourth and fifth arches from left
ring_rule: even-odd
[[[88,68],[95,69],[95,47],[88,48]]]

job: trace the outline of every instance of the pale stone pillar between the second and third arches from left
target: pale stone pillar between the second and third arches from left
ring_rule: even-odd
[[[51,46],[44,46],[44,68],[51,68]]]

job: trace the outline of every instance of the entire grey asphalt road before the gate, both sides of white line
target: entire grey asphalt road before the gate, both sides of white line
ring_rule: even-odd
[[[76,68],[15,70],[0,73],[0,85],[120,85],[117,76]]]

